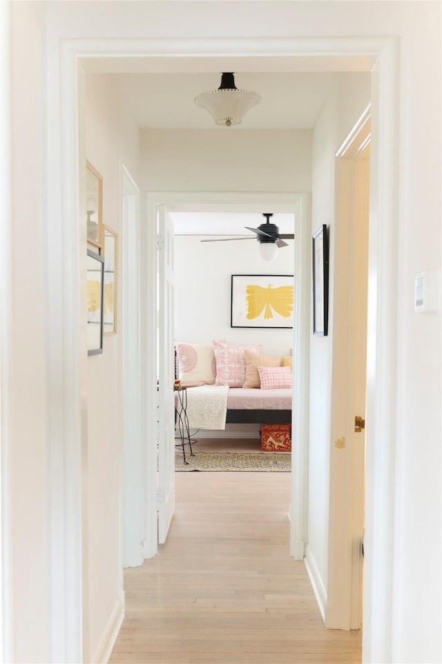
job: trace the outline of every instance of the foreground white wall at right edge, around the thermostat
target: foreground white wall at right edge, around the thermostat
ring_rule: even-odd
[[[392,656],[404,663],[442,661],[441,25],[441,3],[411,3],[401,67]],[[439,311],[416,313],[416,275],[435,269]]]

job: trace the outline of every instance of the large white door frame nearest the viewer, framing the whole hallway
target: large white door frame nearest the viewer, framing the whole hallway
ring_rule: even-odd
[[[59,512],[51,524],[52,571],[59,570],[62,592],[60,631],[55,658],[81,661],[83,590],[88,575],[82,561],[82,483],[86,469],[81,371],[86,356],[79,284],[84,234],[79,229],[79,58],[127,56],[318,58],[317,71],[330,71],[344,57],[354,71],[372,67],[372,167],[369,228],[367,352],[367,497],[365,510],[365,591],[363,658],[387,661],[391,654],[396,454],[396,293],[398,204],[398,40],[396,37],[146,38],[95,37],[47,42],[47,219],[45,259],[48,284],[48,393],[54,414],[48,433],[48,481]],[[325,62],[327,66],[325,66]],[[63,219],[63,224],[60,223]],[[150,269],[150,267],[148,268]],[[383,284],[390,284],[384,288]],[[144,340],[143,340],[144,341]],[[86,382],[85,382],[86,381]],[[59,385],[63,389],[59,389]],[[53,400],[52,400],[53,397]],[[146,403],[146,405],[149,405]],[[57,460],[64,469],[62,479]],[[3,477],[3,480],[5,478]],[[376,486],[376,492],[374,487]],[[57,547],[62,533],[63,546]],[[376,567],[373,561],[376,560]],[[86,562],[86,564],[84,564]],[[51,635],[52,638],[53,635]]]

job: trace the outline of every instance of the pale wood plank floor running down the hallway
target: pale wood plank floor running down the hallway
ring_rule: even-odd
[[[327,630],[289,557],[289,473],[178,472],[171,531],[125,571],[111,664],[361,662],[361,634]]]

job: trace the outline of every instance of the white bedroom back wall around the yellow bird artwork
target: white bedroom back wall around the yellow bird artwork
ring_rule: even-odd
[[[179,275],[175,281],[175,340],[262,344],[262,353],[289,355],[294,345],[292,329],[231,328],[231,275],[294,274],[294,242],[280,250],[274,261],[265,263],[258,259],[254,241],[202,243],[201,239],[198,235],[175,236],[175,274]],[[259,438],[259,428],[259,424],[228,424],[225,431],[200,431],[195,437]]]

